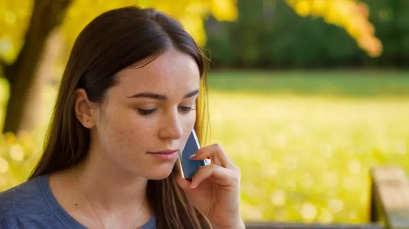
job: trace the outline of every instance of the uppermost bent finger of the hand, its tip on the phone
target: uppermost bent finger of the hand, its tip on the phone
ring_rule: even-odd
[[[229,156],[223,151],[219,144],[213,144],[200,148],[195,154],[191,156],[191,159],[202,160],[213,157],[217,158],[220,162],[220,166],[224,168],[234,167],[233,162],[230,160]]]

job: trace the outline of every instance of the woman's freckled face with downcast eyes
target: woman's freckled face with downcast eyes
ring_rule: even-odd
[[[152,59],[118,73],[118,83],[93,114],[92,132],[103,156],[117,166],[163,179],[194,127],[200,79],[187,54],[170,49],[148,63]]]

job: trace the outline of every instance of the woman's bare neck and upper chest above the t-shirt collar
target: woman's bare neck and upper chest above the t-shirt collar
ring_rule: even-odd
[[[51,174],[50,188],[74,219],[87,227],[132,228],[152,216],[147,179],[124,171],[102,152],[89,152],[79,165]],[[97,217],[96,217],[97,216]]]

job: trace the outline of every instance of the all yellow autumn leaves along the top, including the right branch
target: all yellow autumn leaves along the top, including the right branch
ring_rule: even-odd
[[[368,20],[367,5],[356,0],[284,1],[300,16],[323,17],[327,23],[344,28],[371,57],[382,53],[382,44]],[[202,45],[206,42],[203,18],[211,14],[218,20],[235,20],[238,17],[236,3],[237,0],[77,0],[69,8],[61,28],[69,50],[82,28],[98,14],[126,5],[154,7],[179,19]],[[6,62],[12,62],[18,54],[32,7],[32,0],[0,0],[0,15],[4,15],[4,19],[0,19],[0,58]]]

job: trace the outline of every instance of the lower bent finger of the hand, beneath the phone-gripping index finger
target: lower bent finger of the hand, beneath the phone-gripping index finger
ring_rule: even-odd
[[[214,178],[212,181],[222,186],[235,185],[235,183],[239,182],[240,179],[234,171],[215,164],[210,164],[207,166],[201,166],[199,170],[197,170],[196,174],[192,178],[190,188],[196,188],[203,180],[210,177]]]

